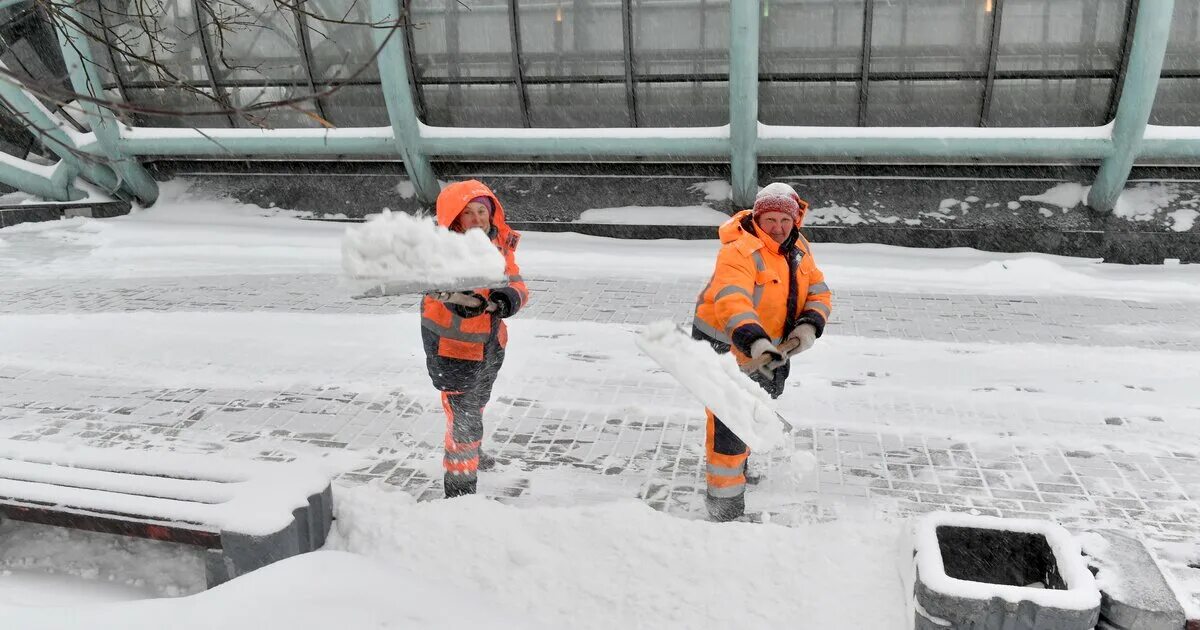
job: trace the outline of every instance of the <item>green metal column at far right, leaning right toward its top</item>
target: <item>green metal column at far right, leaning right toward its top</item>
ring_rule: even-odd
[[[1096,182],[1087,193],[1087,205],[1099,211],[1116,206],[1129,170],[1141,150],[1150,112],[1163,71],[1166,38],[1171,31],[1175,0],[1142,0],[1134,23],[1133,48],[1126,70],[1124,88],[1112,121],[1112,155],[1100,163]]]

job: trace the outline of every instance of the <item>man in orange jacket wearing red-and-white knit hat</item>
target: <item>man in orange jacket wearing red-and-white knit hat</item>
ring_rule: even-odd
[[[764,187],[752,210],[743,210],[719,229],[721,250],[708,286],[696,300],[692,337],[719,353],[733,352],[739,365],[769,361],[751,374],[779,397],[788,359],[812,347],[829,319],[829,287],[800,234],[808,204],[786,184]],[[785,340],[798,344],[785,355]],[[706,504],[715,521],[745,512],[749,449],[713,412],[708,415]]]

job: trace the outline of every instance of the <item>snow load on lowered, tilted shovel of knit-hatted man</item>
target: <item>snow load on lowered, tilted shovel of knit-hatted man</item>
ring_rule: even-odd
[[[770,397],[742,373],[732,354],[716,354],[671,322],[655,322],[637,336],[637,347],[676,378],[751,450],[784,444],[782,422]]]

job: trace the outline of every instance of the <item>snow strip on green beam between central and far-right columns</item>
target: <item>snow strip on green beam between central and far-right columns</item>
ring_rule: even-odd
[[[816,138],[941,138],[941,139],[1092,139],[1112,137],[1112,124],[1103,127],[792,127],[758,124],[760,139]]]

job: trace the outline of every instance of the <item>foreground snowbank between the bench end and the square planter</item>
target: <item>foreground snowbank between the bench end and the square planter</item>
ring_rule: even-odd
[[[804,619],[805,628],[907,628],[899,581],[882,562],[895,526],[870,516],[797,528],[718,524],[634,500],[414,504],[372,486],[338,487],[335,504],[326,548],[378,558],[413,580],[452,582],[457,608],[490,593],[529,625],[790,628]]]

